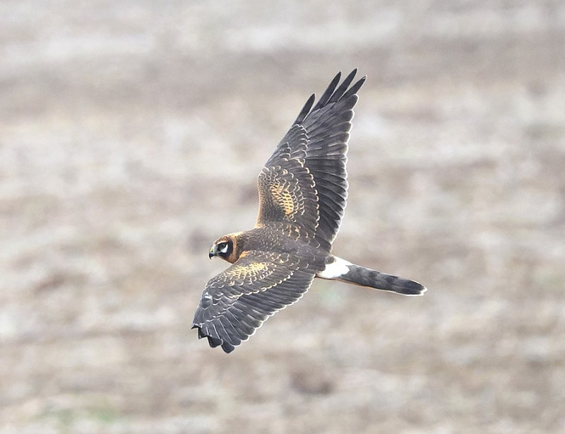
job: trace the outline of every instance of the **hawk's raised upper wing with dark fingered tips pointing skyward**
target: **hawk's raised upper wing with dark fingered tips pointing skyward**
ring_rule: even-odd
[[[363,77],[350,87],[356,73],[357,69],[340,86],[341,74],[336,75],[313,108],[311,95],[267,161],[258,178],[258,225],[290,221],[331,249],[347,200],[345,163],[352,109],[365,81]],[[280,190],[280,184],[290,185],[289,178],[292,188]]]

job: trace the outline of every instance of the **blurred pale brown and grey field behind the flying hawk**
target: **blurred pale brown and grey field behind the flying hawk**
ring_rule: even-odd
[[[0,433],[565,433],[561,0],[1,1]],[[226,355],[218,236],[367,75],[334,252]]]

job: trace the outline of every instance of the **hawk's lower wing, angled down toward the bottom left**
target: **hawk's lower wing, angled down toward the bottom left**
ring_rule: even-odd
[[[304,259],[287,253],[246,252],[210,279],[192,328],[210,346],[230,353],[278,310],[295,303],[312,283]]]

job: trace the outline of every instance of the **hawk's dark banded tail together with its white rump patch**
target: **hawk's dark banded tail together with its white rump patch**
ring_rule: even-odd
[[[331,264],[327,264],[326,269],[319,273],[318,277],[368,286],[383,291],[393,291],[403,295],[422,295],[427,291],[427,288],[418,282],[351,264],[338,257],[335,257],[335,261]]]

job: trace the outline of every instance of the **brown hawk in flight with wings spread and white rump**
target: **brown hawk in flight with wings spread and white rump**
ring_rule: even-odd
[[[347,142],[357,91],[365,78],[336,75],[319,101],[307,100],[258,175],[255,227],[213,242],[210,258],[232,265],[210,279],[192,328],[230,353],[278,310],[295,303],[314,277],[421,295],[420,283],[332,254],[347,199]],[[338,86],[339,84],[339,86]]]

